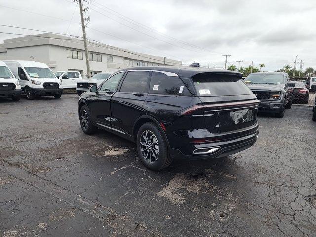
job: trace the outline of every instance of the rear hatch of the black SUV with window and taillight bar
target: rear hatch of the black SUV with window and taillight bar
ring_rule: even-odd
[[[236,73],[199,73],[192,76],[194,93],[201,103],[182,114],[203,116],[211,133],[225,133],[254,125],[259,100],[241,76]]]

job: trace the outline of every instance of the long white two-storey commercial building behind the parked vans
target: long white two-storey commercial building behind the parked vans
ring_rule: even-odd
[[[137,66],[182,65],[181,61],[137,53],[97,42],[88,42],[90,70],[115,72]],[[47,64],[54,72],[76,70],[87,75],[81,39],[44,33],[4,40],[0,60],[33,60]]]

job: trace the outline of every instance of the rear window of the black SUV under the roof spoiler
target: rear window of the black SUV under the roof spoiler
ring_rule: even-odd
[[[198,96],[248,95],[252,91],[235,75],[199,73],[192,77]]]

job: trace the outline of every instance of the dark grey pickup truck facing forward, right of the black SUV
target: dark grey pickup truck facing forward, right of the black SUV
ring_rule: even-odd
[[[259,112],[282,118],[285,109],[291,109],[295,83],[291,83],[287,73],[251,73],[244,81],[260,100]]]

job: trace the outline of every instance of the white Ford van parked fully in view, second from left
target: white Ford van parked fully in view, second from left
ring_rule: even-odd
[[[44,63],[35,61],[4,61],[19,80],[27,99],[35,96],[60,98],[63,86],[51,69]]]

